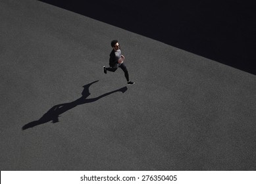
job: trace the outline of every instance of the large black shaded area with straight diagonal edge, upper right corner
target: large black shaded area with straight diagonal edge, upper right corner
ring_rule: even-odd
[[[256,74],[253,1],[39,1]]]

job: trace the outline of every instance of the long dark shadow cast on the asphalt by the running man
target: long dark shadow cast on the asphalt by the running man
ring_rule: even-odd
[[[97,80],[97,81],[99,81],[99,80]],[[30,127],[38,126],[40,124],[45,124],[50,121],[52,121],[52,123],[57,123],[57,122],[59,122],[60,114],[63,114],[64,112],[74,108],[75,106],[78,106],[80,104],[92,103],[92,102],[95,102],[103,97],[106,97],[107,95],[111,95],[112,93],[116,93],[118,91],[124,93],[127,90],[127,87],[122,87],[120,89],[116,89],[115,91],[111,91],[109,93],[100,95],[99,97],[87,99],[87,97],[89,97],[91,94],[89,92],[90,85],[92,85],[93,83],[95,83],[97,81],[93,81],[91,83],[84,85],[83,86],[84,90],[82,91],[82,97],[80,97],[79,99],[76,99],[76,101],[73,101],[71,103],[57,104],[57,105],[53,106],[45,114],[43,114],[43,116],[39,120],[30,122],[30,123],[24,125],[22,127],[22,130],[28,129]]]

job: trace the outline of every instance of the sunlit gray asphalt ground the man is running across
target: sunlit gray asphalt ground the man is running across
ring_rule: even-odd
[[[256,170],[253,74],[35,0],[0,20],[0,170]]]

